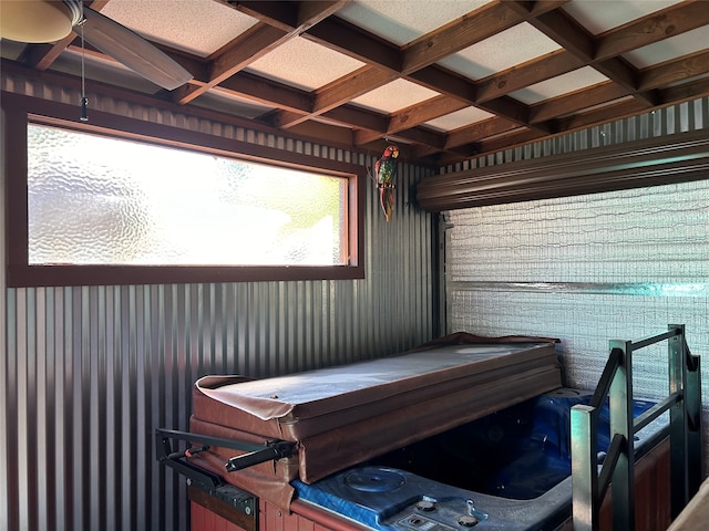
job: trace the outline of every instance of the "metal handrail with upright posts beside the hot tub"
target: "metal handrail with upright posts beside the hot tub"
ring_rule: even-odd
[[[633,418],[633,352],[668,341],[669,396]],[[597,531],[600,503],[612,489],[613,528],[635,529],[634,436],[670,412],[670,511],[676,518],[699,490],[701,448],[701,379],[699,356],[685,340],[685,325],[639,341],[609,342],[610,354],[589,405],[572,408],[572,511],[575,531]],[[612,442],[598,472],[598,416],[609,399]]]

